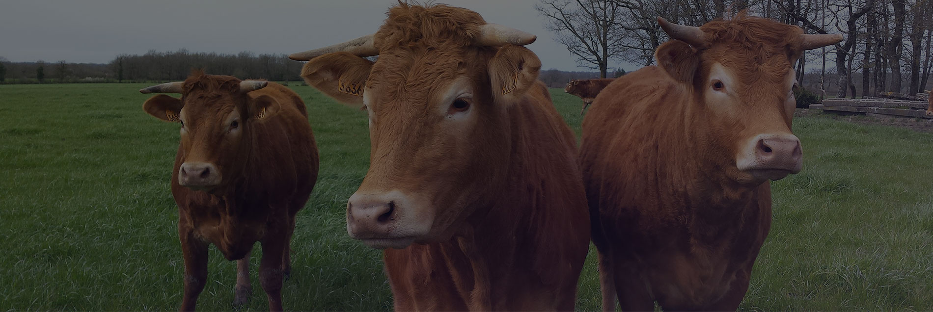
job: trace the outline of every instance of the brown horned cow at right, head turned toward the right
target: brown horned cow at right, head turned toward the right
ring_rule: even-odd
[[[801,170],[791,134],[805,49],[842,40],[747,17],[676,40],[616,79],[583,121],[580,160],[605,310],[735,310],[771,226],[771,188]]]

